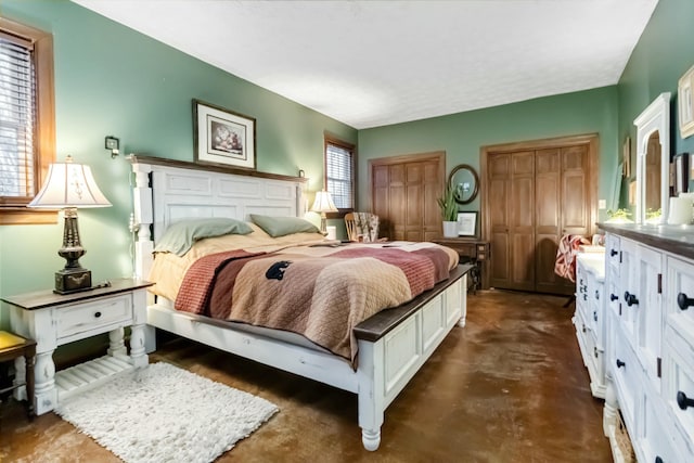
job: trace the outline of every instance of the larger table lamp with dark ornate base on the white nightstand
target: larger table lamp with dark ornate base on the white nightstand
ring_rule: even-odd
[[[89,166],[73,164],[70,156],[67,156],[65,163],[49,166],[48,179],[28,207],[63,209],[63,247],[57,250],[57,255],[66,262],[64,269],[55,272],[54,293],[70,294],[91,290],[91,271],[79,265],[79,258],[86,250],[79,242],[77,208],[108,206],[111,203],[97,187]]]

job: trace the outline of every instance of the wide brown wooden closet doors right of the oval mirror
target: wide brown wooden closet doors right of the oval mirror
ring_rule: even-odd
[[[490,286],[573,294],[575,285],[554,273],[554,262],[563,234],[595,231],[596,157],[596,136],[483,149]]]

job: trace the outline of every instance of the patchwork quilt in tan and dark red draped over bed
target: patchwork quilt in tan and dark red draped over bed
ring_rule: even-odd
[[[232,250],[197,259],[176,299],[178,310],[300,334],[355,364],[352,329],[446,280],[440,246],[383,245]]]

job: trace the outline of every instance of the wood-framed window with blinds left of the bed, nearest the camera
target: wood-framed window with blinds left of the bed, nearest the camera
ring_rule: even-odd
[[[53,37],[0,17],[0,224],[55,222],[27,209],[55,155]]]

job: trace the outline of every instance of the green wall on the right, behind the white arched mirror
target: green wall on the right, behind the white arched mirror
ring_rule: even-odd
[[[694,1],[660,0],[631,54],[619,80],[619,143],[632,140],[635,162],[633,119],[660,93],[670,92],[670,155],[694,153],[694,137],[682,139],[678,118],[677,85],[694,65]],[[632,163],[633,166],[635,164]],[[632,172],[635,176],[635,168]],[[627,206],[622,194],[622,205]]]

